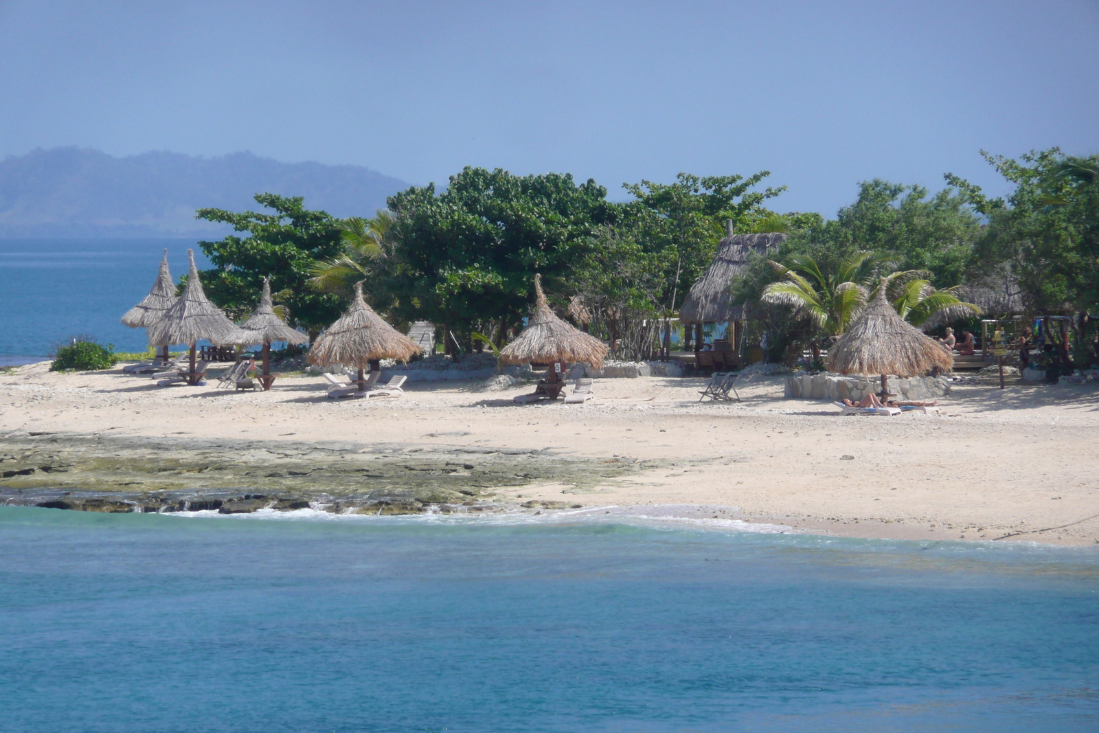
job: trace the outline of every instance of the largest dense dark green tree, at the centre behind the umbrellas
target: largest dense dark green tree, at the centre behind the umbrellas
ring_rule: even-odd
[[[473,167],[443,193],[432,184],[390,197],[395,311],[446,324],[464,340],[479,331],[502,343],[530,310],[535,273],[547,291],[568,290],[592,232],[617,214],[606,197],[596,181],[576,185],[569,175]]]

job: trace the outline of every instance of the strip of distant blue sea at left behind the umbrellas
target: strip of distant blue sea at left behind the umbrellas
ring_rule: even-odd
[[[0,366],[38,360],[77,335],[144,351],[145,330],[119,319],[148,295],[166,247],[177,280],[188,247],[210,267],[195,240],[0,240]]]

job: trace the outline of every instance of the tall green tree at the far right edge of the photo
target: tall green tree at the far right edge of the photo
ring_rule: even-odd
[[[1099,308],[1099,156],[1066,156],[1056,147],[1018,160],[981,155],[1015,188],[989,199],[980,187],[946,175],[989,220],[975,268],[1010,263],[1035,312]]]

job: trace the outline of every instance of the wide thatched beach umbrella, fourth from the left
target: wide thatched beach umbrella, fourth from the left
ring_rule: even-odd
[[[309,363],[349,364],[358,369],[358,388],[366,389],[363,370],[378,368],[380,359],[408,362],[421,352],[414,341],[381,320],[363,300],[363,282],[355,284],[351,308],[324,330],[309,349]]]

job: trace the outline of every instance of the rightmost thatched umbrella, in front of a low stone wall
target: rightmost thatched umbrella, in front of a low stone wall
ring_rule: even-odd
[[[880,374],[884,399],[888,393],[886,375],[914,377],[935,368],[950,371],[954,357],[939,342],[904,322],[886,298],[882,279],[877,296],[829,348],[828,368],[843,374]]]

